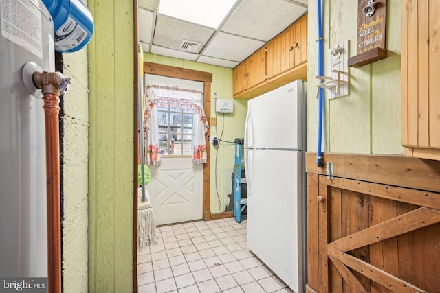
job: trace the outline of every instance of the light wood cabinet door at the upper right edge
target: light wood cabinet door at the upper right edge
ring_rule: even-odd
[[[402,1],[402,145],[430,159],[440,159],[439,11],[438,0]]]

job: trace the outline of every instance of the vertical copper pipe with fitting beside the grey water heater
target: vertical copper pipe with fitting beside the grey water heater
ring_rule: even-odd
[[[47,176],[47,292],[61,293],[61,179],[58,114],[60,87],[65,78],[59,72],[35,72],[32,80],[43,93],[46,132]],[[69,79],[67,79],[69,84]],[[63,92],[67,90],[67,86]]]

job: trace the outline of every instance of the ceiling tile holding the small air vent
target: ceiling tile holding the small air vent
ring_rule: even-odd
[[[214,30],[206,27],[157,15],[153,44],[179,50],[182,40],[195,41],[202,44],[197,50],[199,53],[213,33]]]

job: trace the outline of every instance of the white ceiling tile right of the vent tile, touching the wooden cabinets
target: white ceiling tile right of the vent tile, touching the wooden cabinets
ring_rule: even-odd
[[[265,42],[219,32],[203,51],[203,55],[241,62]]]

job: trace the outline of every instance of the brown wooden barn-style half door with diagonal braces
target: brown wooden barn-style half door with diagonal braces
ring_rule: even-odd
[[[306,159],[307,292],[440,292],[440,162],[326,153],[329,179],[315,156]],[[408,170],[418,175],[408,180]]]

